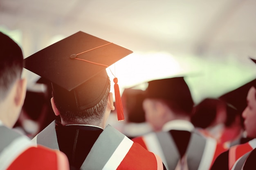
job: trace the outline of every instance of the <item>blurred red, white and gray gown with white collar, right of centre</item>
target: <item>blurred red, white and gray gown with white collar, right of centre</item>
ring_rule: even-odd
[[[194,131],[188,121],[175,120],[164,125],[162,132],[153,132],[132,139],[150,152],[159,155],[168,170],[183,168],[209,170],[216,157],[225,151],[216,140]]]

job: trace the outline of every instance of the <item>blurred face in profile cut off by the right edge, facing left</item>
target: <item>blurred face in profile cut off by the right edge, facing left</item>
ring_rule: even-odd
[[[247,137],[256,138],[256,88],[252,86],[247,94],[247,107],[242,114]]]

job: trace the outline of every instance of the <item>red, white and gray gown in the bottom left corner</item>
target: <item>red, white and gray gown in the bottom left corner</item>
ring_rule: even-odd
[[[67,158],[59,151],[34,145],[27,136],[0,122],[0,170],[68,170]]]

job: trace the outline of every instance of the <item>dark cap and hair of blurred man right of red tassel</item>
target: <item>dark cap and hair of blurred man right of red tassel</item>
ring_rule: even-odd
[[[148,82],[146,98],[163,100],[174,112],[189,116],[194,105],[191,92],[183,77]]]

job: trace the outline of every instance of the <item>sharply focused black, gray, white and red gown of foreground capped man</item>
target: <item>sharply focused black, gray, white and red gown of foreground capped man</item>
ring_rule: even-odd
[[[108,125],[104,130],[90,125],[55,124],[33,141],[63,151],[71,169],[162,170],[162,160]]]

